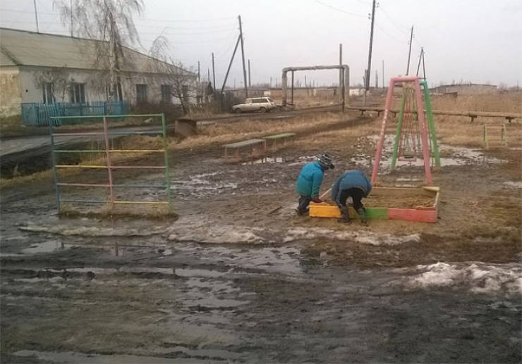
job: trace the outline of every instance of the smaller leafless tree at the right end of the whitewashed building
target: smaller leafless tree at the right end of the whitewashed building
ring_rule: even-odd
[[[169,55],[169,42],[159,35],[149,51],[151,56],[151,67],[162,75],[162,82],[166,82],[171,87],[171,95],[178,99],[183,108],[183,113],[188,113],[190,105],[190,95],[198,87],[196,85],[196,74],[192,70],[187,70],[181,61],[175,61]]]

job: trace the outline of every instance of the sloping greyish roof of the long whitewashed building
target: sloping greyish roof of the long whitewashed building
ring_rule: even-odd
[[[94,39],[0,27],[0,65],[102,69],[97,65],[95,55],[97,46],[103,43]],[[164,73],[166,70],[179,71],[181,68],[124,47],[121,70]]]

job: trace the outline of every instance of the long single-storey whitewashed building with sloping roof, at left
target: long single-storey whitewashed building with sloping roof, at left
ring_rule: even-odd
[[[109,70],[97,57],[103,42],[0,28],[0,115],[21,113],[22,104],[88,104],[109,98]],[[195,103],[197,75],[123,49],[115,101],[178,103],[172,75],[183,75],[183,99]]]

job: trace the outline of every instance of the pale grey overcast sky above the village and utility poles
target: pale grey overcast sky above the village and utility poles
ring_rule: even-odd
[[[75,0],[76,1],[76,0]],[[406,74],[408,42],[413,25],[410,74],[416,73],[420,47],[425,50],[426,76],[431,84],[473,82],[522,84],[521,0],[379,0],[375,12],[371,84],[375,70],[384,77]],[[69,34],[52,0],[36,0],[40,32]],[[351,84],[363,82],[370,40],[370,0],[145,0],[145,12],[135,17],[141,50],[164,34],[174,58],[197,69],[202,77],[215,54],[220,87],[238,36],[237,15],[243,20],[245,58],[251,62],[252,83],[281,81],[281,69],[296,65],[343,63]],[[0,0],[0,25],[36,30],[33,0]],[[337,82],[334,71],[296,73],[316,84]],[[227,85],[243,84],[238,49]]]

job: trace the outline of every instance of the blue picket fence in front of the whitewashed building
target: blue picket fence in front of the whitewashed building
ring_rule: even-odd
[[[22,124],[47,126],[53,116],[95,116],[109,113],[108,101],[92,101],[86,103],[22,103]],[[123,115],[128,112],[126,101],[113,101],[111,114]],[[98,119],[99,120],[99,119]],[[89,119],[68,119],[66,123],[87,123]],[[54,119],[53,125],[63,125],[63,121]]]

